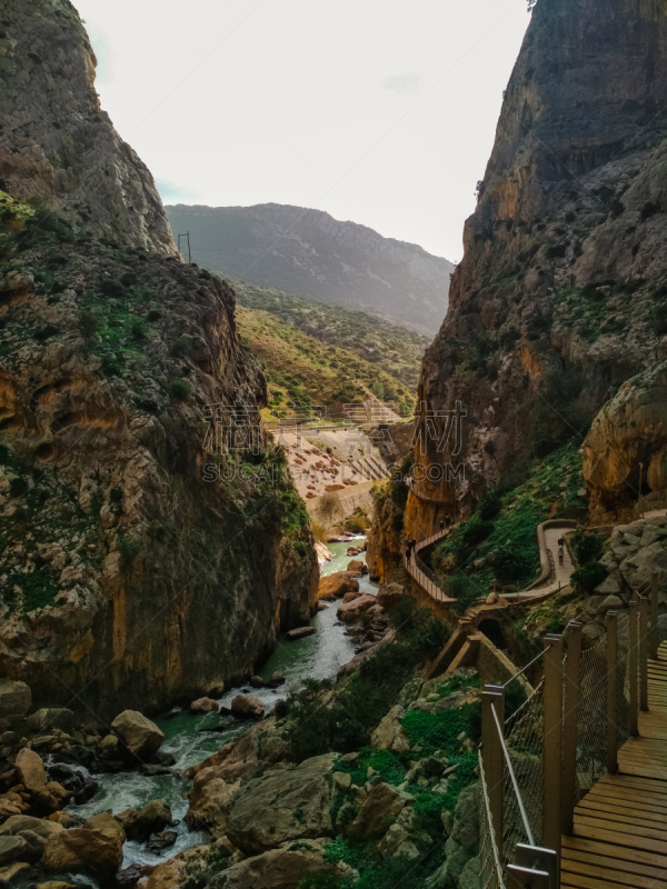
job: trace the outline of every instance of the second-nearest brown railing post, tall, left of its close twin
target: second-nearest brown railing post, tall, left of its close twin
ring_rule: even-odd
[[[560,766],[563,756],[563,636],[546,636],[542,846],[560,860]]]

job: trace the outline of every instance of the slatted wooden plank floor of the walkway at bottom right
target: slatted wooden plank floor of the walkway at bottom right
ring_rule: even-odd
[[[575,809],[563,837],[565,889],[667,889],[667,643],[648,661],[648,712],[639,738],[618,753],[618,773],[605,775]]]

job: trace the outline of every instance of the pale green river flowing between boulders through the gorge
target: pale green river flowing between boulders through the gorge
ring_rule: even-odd
[[[361,546],[360,541],[364,541],[362,537],[355,538],[354,542]],[[350,558],[362,558],[347,556],[349,546],[350,542],[328,545],[334,559],[322,567],[322,576],[344,571]],[[376,593],[377,583],[371,583],[366,575],[359,580],[359,589],[362,592]],[[354,657],[355,645],[346,636],[345,626],[336,617],[338,603],[327,605],[328,608],[319,611],[311,620],[311,625],[317,628],[317,633],[295,642],[288,642],[285,638],[280,638],[276,651],[260,671],[259,676],[265,680],[269,679],[273,672],[282,673],[286,678],[283,686],[278,689],[251,689],[249,686],[241,686],[230,689],[218,699],[218,702],[229,707],[236,695],[240,691],[249,691],[255,698],[263,701],[267,712],[270,712],[278,700],[297,690],[306,678],[334,679],[340,667]],[[189,766],[201,762],[247,726],[233,717],[221,717],[218,713],[193,717],[187,710],[176,717],[155,721],[165,732],[165,742],[160,749],[175,757],[176,770],[187,769]],[[215,727],[223,730],[207,731]],[[137,842],[126,842],[123,868],[135,863],[158,865],[160,861],[173,858],[183,849],[208,842],[208,835],[205,831],[190,832],[183,821],[188,811],[188,800],[183,796],[183,791],[189,789],[190,783],[171,775],[147,777],[138,772],[122,772],[93,777],[99,782],[99,790],[86,805],[72,807],[72,812],[84,818],[109,810],[113,815],[118,815],[128,808],[140,809],[152,799],[163,799],[171,807],[173,819],[179,821],[176,828],[178,835],[176,843],[159,853],[152,853],[147,850],[146,846]],[[94,886],[90,878],[82,879],[81,882]]]

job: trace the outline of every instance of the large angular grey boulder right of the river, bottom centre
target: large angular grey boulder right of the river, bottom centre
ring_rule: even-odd
[[[231,842],[246,855],[258,855],[287,840],[329,836],[335,760],[335,753],[326,753],[251,778],[229,812]]]

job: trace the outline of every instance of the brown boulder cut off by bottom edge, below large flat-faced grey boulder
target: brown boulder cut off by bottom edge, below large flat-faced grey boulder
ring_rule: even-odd
[[[323,860],[322,846],[300,841],[286,843],[279,849],[247,858],[221,871],[209,882],[210,889],[297,889],[301,880],[315,873],[330,873],[344,880],[349,876],[345,865],[331,865]],[[322,883],[328,885],[328,883]],[[331,880],[337,886],[336,880]]]

